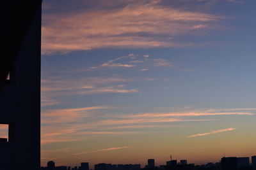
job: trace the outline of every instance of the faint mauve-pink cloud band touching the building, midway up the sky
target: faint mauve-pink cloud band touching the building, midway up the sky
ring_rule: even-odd
[[[63,104],[60,96],[81,96],[92,94],[128,94],[138,93],[140,90],[129,88],[120,84],[134,81],[133,78],[116,77],[86,77],[75,80],[65,80],[64,78],[49,78],[42,80],[42,106],[54,106]]]

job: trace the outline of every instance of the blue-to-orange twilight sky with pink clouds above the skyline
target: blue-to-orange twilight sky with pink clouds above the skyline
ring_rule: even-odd
[[[255,5],[45,0],[42,166],[256,155]]]

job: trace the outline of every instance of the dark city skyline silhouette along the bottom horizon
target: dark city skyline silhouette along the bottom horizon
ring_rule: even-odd
[[[251,159],[251,160],[250,160]],[[81,162],[81,166],[55,166],[54,161],[47,162],[47,166],[41,167],[41,170],[253,170],[256,169],[256,156],[252,157],[222,157],[220,162],[208,162],[207,164],[195,165],[188,163],[188,160],[171,160],[166,161],[165,165],[156,166],[154,159],[148,159],[145,167],[141,164],[106,164],[100,163],[89,166],[89,162]],[[91,167],[91,168],[90,168]],[[94,167],[94,168],[92,168]]]

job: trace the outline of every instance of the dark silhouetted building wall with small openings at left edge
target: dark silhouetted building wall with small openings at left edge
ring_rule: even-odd
[[[8,139],[0,141],[0,169],[40,169],[41,5],[1,1],[0,124]]]

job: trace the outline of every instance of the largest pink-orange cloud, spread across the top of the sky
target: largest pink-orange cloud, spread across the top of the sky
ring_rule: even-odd
[[[113,4],[115,8],[108,10],[93,8],[45,13],[42,53],[66,53],[94,48],[198,46],[174,38],[220,29],[216,24],[222,18],[220,16],[162,6],[159,4],[161,1],[122,2],[119,8]]]

